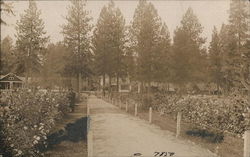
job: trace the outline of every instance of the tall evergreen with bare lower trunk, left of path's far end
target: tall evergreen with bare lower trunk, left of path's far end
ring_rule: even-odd
[[[66,16],[66,24],[62,26],[64,43],[71,52],[65,69],[70,76],[77,78],[77,91],[80,92],[82,76],[89,76],[92,54],[90,51],[91,17],[85,9],[85,0],[71,0]]]

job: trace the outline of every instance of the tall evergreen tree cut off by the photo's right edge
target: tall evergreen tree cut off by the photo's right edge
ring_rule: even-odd
[[[230,35],[234,36],[235,38],[235,45],[236,45],[236,52],[234,55],[234,63],[230,64],[232,69],[234,70],[234,84],[241,88],[241,85],[238,85],[238,82],[241,84],[242,81],[240,78],[241,68],[242,66],[245,68],[245,75],[248,75],[248,61],[243,58],[244,50],[247,52],[247,39],[250,38],[249,34],[249,21],[250,21],[250,14],[249,14],[249,6],[247,1],[243,0],[232,0],[230,3],[230,10],[229,10],[229,26],[230,26]],[[247,58],[247,55],[245,55]]]

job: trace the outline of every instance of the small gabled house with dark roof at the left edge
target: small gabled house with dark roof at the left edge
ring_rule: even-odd
[[[0,78],[0,89],[22,88],[23,85],[24,81],[21,79],[21,77],[18,77],[13,73],[1,76]]]

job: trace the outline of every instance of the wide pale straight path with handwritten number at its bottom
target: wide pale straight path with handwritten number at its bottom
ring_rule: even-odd
[[[165,156],[173,157],[215,157],[208,150],[177,139],[173,133],[131,116],[94,96],[90,97],[88,104],[94,157],[129,157],[135,153],[144,157],[159,156],[155,152],[166,152]]]

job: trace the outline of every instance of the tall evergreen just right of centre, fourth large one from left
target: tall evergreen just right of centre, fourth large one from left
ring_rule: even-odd
[[[136,54],[137,80],[142,83],[155,81],[156,67],[161,53],[158,51],[162,23],[152,3],[140,0],[132,21],[131,45]]]

